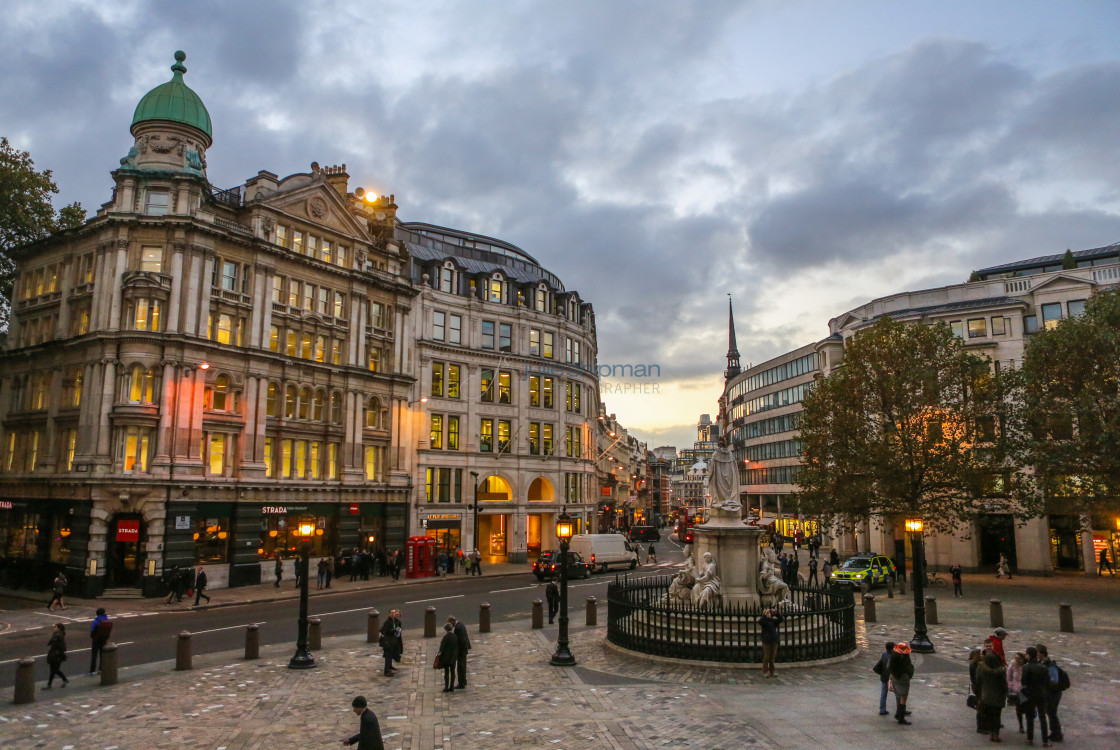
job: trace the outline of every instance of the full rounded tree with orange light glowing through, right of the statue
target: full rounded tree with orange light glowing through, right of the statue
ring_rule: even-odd
[[[999,375],[949,326],[883,318],[802,402],[802,512],[841,531],[876,515],[955,531],[1011,478],[1001,404]]]

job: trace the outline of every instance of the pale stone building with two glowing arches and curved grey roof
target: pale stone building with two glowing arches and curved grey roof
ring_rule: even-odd
[[[420,223],[395,236],[418,292],[413,527],[492,562],[557,549],[564,508],[577,533],[594,528],[590,303],[508,242]]]

